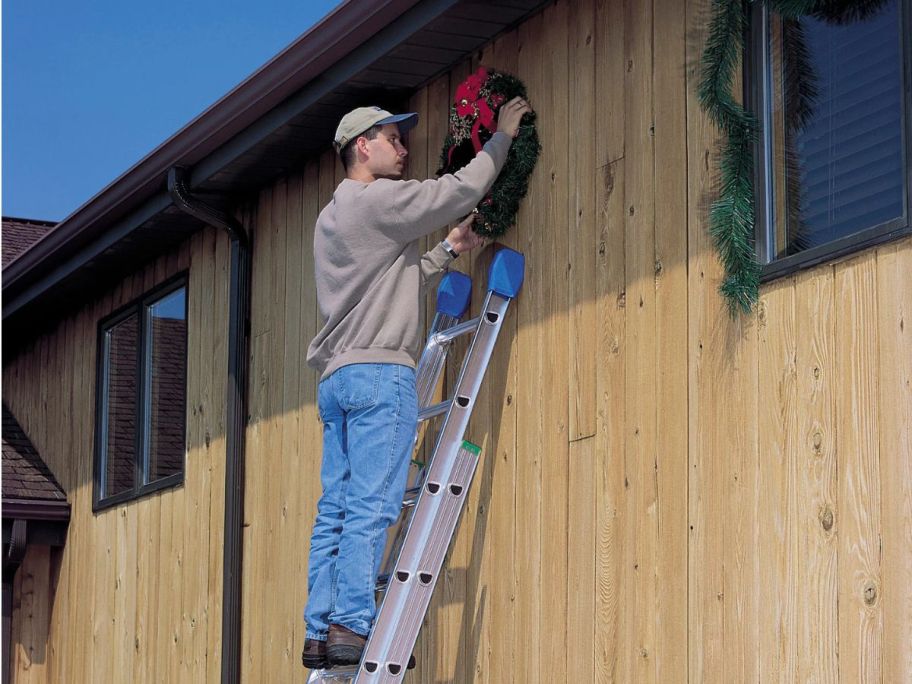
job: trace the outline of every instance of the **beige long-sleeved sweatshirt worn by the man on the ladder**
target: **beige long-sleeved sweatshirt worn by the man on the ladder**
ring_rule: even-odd
[[[317,218],[317,303],[325,325],[307,363],[321,379],[353,363],[415,366],[421,290],[451,258],[418,238],[468,214],[497,178],[512,138],[495,133],[455,174],[426,181],[345,179]]]

